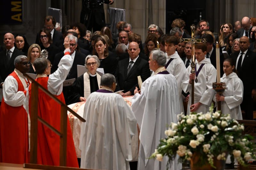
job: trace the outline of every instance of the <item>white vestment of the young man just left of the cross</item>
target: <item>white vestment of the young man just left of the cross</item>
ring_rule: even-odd
[[[171,56],[167,56],[166,57],[166,63],[171,59],[171,63],[169,64],[169,66],[166,68],[166,70],[171,73],[172,75],[174,75],[176,81],[177,81],[177,87],[178,87],[178,94],[179,94],[179,99],[180,99],[180,112],[184,113],[184,106],[183,106],[183,102],[182,102],[182,89],[181,89],[181,83],[183,80],[184,75],[186,74],[186,66],[184,64],[184,62],[182,61],[182,59],[180,58],[179,54],[177,51],[175,51],[174,54],[172,54]]]

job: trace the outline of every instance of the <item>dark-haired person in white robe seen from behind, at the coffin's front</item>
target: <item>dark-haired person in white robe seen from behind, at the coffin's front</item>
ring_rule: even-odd
[[[81,168],[130,169],[131,137],[137,121],[123,97],[113,93],[115,89],[115,76],[106,73],[101,76],[100,89],[87,98],[79,145]]]

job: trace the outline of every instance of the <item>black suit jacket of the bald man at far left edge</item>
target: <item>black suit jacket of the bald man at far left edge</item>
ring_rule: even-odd
[[[19,55],[24,55],[24,52],[18,50],[17,48],[14,48],[12,57],[9,63],[7,63],[6,50],[4,49],[0,52],[0,83],[4,82],[6,77],[13,72],[15,68],[14,59]]]

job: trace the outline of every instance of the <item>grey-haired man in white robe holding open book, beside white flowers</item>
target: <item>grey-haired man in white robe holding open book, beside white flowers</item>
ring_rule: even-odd
[[[149,56],[149,67],[155,75],[142,83],[141,94],[134,90],[132,111],[140,127],[138,170],[165,170],[168,158],[162,162],[148,159],[155,152],[159,140],[166,137],[166,125],[177,123],[180,100],[175,77],[165,69],[166,56],[163,51],[153,50]],[[180,170],[178,157],[172,161],[171,170]]]

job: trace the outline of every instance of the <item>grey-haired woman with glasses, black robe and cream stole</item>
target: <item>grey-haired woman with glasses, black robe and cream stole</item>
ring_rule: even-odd
[[[101,76],[96,72],[100,66],[99,58],[95,55],[88,55],[85,58],[84,66],[88,71],[79,76],[72,84],[73,94],[69,97],[69,104],[86,101],[89,95],[100,87]]]

